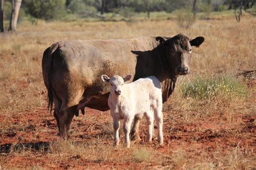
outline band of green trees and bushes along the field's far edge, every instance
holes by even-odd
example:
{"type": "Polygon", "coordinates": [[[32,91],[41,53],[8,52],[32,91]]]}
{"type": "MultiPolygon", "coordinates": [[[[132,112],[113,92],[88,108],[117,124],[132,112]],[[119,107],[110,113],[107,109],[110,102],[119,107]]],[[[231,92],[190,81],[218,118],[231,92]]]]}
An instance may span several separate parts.
{"type": "MultiPolygon", "coordinates": [[[[149,17],[152,12],[165,11],[176,12],[178,23],[183,28],[189,28],[196,18],[192,16],[191,9],[194,1],[187,0],[25,0],[22,1],[21,17],[29,16],[31,22],[36,23],[38,18],[62,19],[65,21],[77,17],[92,17],[106,19],[106,14],[131,18],[135,13],[146,12],[149,17]],[[184,10],[186,9],[186,10],[184,10]],[[24,13],[24,10],[26,13],[24,13]],[[182,13],[185,11],[185,13],[182,13]],[[67,15],[69,14],[69,16],[67,15]]],[[[252,0],[245,1],[244,8],[250,8],[252,0]]],[[[203,18],[209,18],[212,11],[223,11],[235,8],[231,0],[197,0],[196,11],[203,18]]],[[[5,19],[11,15],[11,1],[6,0],[4,6],[5,19]]]]}

